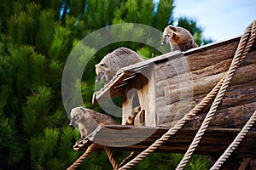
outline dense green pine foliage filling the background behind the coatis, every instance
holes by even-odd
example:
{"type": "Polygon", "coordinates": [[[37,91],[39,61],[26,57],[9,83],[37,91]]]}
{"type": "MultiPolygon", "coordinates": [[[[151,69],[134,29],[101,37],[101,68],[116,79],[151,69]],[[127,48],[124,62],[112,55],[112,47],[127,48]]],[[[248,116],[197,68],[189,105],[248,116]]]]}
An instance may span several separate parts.
{"type": "MultiPolygon", "coordinates": [[[[69,120],[63,102],[75,105],[76,99],[82,95],[84,102],[81,105],[104,112],[91,104],[95,89],[102,87],[102,84],[95,84],[95,65],[102,57],[122,46],[137,51],[144,59],[160,54],[154,48],[138,43],[154,41],[150,32],[134,25],[113,28],[109,33],[117,41],[129,35],[138,42],[116,42],[96,51],[80,40],[97,29],[105,26],[108,29],[108,26],[124,22],[153,26],[162,31],[175,21],[172,17],[173,4],[170,0],[160,0],[157,6],[151,0],[97,3],[94,0],[22,0],[0,3],[0,169],[69,167],[82,153],[73,150],[80,134],[76,128],[67,127],[69,120]],[[78,45],[82,48],[76,48],[78,45]],[[70,96],[62,101],[61,77],[70,55],[76,56],[75,65],[67,67],[74,72],[69,75],[74,83],[63,82],[62,88],[70,96]],[[81,69],[84,73],[79,77],[76,73],[81,69]]],[[[194,20],[181,18],[177,21],[179,26],[191,31],[198,44],[211,42],[202,36],[203,29],[194,20]]],[[[98,34],[90,43],[96,45],[106,36],[98,34]]],[[[121,99],[113,99],[113,102],[121,105],[121,99]]],[[[119,117],[114,118],[120,122],[119,117]]],[[[119,160],[125,158],[122,153],[116,154],[119,160]]],[[[188,168],[207,167],[208,164],[204,163],[207,161],[199,158],[192,158],[188,168]]],[[[154,153],[134,168],[172,169],[180,159],[177,155],[154,153]]],[[[80,169],[112,167],[104,152],[95,152],[80,169]]]]}

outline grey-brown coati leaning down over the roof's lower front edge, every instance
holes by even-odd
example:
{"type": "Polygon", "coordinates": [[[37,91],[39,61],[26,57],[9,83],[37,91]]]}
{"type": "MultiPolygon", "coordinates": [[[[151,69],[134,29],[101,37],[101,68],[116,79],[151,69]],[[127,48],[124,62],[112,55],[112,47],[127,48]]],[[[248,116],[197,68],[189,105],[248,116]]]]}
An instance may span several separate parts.
{"type": "Polygon", "coordinates": [[[105,83],[108,83],[120,68],[136,64],[143,60],[142,57],[129,48],[117,48],[112,53],[107,54],[100,63],[95,65],[96,82],[105,78],[105,83]]]}

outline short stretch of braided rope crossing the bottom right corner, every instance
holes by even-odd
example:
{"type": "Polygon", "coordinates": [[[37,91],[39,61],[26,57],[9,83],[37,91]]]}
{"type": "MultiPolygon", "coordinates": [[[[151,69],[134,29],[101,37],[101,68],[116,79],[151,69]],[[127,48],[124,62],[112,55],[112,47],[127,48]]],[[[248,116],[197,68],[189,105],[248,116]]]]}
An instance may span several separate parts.
{"type": "Polygon", "coordinates": [[[256,122],[256,110],[253,112],[253,115],[248,120],[247,124],[242,127],[240,133],[237,134],[236,139],[230,144],[230,146],[227,148],[227,150],[224,151],[224,154],[218,158],[218,161],[214,163],[214,165],[211,167],[211,170],[217,170],[219,167],[222,166],[224,161],[226,161],[231,153],[236,150],[236,147],[238,144],[240,144],[241,140],[244,139],[244,137],[249,132],[250,128],[253,127],[253,124],[256,122]]]}

